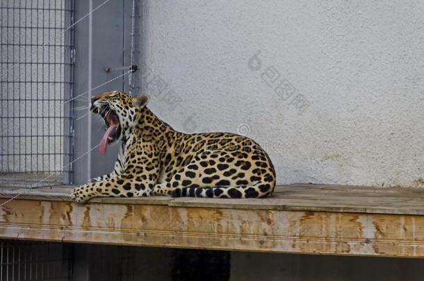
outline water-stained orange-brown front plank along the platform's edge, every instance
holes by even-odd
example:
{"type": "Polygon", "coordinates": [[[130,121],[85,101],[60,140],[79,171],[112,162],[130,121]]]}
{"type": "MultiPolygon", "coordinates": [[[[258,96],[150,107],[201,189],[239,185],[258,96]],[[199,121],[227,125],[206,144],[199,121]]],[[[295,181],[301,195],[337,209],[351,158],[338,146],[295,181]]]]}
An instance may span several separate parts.
{"type": "Polygon", "coordinates": [[[0,207],[0,237],[424,257],[424,216],[16,199],[0,207]]]}

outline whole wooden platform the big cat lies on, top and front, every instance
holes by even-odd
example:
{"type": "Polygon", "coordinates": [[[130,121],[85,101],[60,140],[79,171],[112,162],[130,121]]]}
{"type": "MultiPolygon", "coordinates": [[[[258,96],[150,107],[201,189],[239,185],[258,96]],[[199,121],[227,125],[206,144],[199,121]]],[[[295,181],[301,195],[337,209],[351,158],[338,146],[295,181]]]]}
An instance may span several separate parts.
{"type": "Polygon", "coordinates": [[[424,189],[279,186],[267,199],[95,198],[0,187],[0,237],[280,253],[424,257],[424,189]]]}

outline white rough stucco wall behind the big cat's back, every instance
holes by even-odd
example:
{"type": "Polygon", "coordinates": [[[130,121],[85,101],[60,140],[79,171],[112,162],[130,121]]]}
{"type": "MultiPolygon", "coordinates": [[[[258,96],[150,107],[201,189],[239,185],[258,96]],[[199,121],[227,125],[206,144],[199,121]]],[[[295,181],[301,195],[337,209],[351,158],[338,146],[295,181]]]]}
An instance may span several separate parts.
{"type": "Polygon", "coordinates": [[[143,5],[142,82],[174,128],[245,133],[279,183],[424,186],[423,1],[143,5]]]}

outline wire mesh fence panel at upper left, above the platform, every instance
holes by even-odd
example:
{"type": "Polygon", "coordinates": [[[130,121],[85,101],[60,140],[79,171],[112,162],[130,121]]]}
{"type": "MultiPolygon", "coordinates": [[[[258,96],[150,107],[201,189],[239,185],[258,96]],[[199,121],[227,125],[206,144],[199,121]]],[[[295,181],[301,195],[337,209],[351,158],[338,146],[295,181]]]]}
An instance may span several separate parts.
{"type": "Polygon", "coordinates": [[[0,182],[70,183],[73,6],[0,1],[0,182]]]}

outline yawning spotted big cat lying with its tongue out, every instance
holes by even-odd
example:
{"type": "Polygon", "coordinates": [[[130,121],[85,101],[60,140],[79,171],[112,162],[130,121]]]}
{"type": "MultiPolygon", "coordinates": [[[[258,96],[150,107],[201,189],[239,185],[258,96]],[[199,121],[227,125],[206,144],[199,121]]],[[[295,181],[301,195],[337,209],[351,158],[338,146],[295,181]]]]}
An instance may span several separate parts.
{"type": "Polygon", "coordinates": [[[120,143],[111,173],[75,187],[73,201],[93,197],[171,195],[204,198],[263,198],[275,187],[275,170],[259,144],[233,133],[186,134],[149,108],[149,96],[105,92],[93,96],[90,111],[106,132],[99,149],[120,143]]]}

